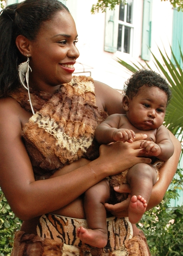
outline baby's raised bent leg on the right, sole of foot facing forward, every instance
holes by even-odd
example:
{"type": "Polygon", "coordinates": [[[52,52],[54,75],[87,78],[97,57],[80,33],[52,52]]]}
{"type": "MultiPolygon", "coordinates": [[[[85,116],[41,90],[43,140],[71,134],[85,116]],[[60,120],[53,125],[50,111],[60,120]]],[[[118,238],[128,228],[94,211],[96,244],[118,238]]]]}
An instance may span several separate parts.
{"type": "Polygon", "coordinates": [[[150,164],[139,163],[129,169],[126,177],[131,188],[129,221],[137,223],[146,211],[153,185],[157,180],[156,170],[150,164]]]}

